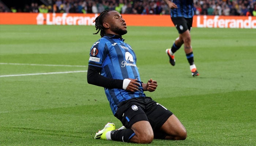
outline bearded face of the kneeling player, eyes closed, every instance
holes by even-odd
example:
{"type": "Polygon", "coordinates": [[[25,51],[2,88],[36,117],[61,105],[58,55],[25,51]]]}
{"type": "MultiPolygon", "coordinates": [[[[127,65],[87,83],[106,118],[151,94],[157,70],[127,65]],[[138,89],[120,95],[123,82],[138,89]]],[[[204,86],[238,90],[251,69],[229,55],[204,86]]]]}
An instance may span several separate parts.
{"type": "Polygon", "coordinates": [[[124,35],[127,33],[127,26],[125,20],[117,11],[109,12],[110,31],[117,35],[124,35]]]}

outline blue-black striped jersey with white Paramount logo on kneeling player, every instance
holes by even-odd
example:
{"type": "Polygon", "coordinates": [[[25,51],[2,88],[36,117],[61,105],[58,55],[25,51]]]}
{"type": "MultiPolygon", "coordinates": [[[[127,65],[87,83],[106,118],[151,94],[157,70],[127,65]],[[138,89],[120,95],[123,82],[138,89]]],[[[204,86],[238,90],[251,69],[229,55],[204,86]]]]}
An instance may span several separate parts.
{"type": "Polygon", "coordinates": [[[124,89],[105,88],[113,114],[116,114],[117,105],[125,100],[145,97],[138,68],[136,55],[132,47],[124,39],[116,35],[105,35],[91,47],[89,65],[102,68],[101,75],[107,78],[124,80],[125,78],[138,79],[139,90],[128,92],[124,89]]]}

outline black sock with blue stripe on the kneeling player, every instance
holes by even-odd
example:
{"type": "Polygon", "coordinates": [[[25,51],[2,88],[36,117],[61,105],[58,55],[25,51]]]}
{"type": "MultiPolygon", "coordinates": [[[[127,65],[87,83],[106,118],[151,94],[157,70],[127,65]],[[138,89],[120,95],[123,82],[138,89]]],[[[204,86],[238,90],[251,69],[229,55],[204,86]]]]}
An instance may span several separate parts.
{"type": "Polygon", "coordinates": [[[122,129],[113,130],[110,135],[113,141],[129,142],[135,133],[131,129],[122,129]]]}

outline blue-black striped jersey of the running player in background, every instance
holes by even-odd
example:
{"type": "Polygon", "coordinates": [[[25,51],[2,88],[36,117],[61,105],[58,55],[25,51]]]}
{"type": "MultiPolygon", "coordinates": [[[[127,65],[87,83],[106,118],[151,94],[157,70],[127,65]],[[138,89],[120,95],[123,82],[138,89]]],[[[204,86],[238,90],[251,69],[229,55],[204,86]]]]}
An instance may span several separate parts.
{"type": "Polygon", "coordinates": [[[171,17],[192,18],[194,16],[193,0],[172,0],[178,8],[171,9],[171,17]]]}

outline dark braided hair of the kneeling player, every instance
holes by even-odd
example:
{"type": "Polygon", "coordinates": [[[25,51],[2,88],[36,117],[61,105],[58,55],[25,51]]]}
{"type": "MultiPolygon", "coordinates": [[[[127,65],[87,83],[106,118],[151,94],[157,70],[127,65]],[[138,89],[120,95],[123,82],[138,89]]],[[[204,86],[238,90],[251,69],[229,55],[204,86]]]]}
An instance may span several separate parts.
{"type": "Polygon", "coordinates": [[[105,34],[104,29],[105,29],[105,28],[103,27],[103,21],[104,21],[104,19],[105,19],[105,15],[109,15],[109,14],[108,14],[109,11],[113,11],[113,10],[109,10],[109,9],[108,9],[108,10],[102,11],[101,14],[99,14],[99,16],[95,18],[95,20],[94,20],[94,22],[95,22],[95,28],[96,28],[96,31],[97,31],[97,30],[98,30],[98,31],[95,32],[94,34],[98,34],[99,31],[101,31],[101,32],[100,32],[101,37],[104,36],[104,34],[105,34]]]}

